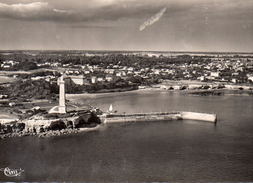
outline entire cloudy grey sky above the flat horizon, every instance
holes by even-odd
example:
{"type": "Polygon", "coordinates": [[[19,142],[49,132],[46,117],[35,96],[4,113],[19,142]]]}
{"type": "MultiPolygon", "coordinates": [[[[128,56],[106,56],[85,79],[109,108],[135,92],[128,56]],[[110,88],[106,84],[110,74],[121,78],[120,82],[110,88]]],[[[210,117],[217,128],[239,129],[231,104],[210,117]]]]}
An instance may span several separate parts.
{"type": "Polygon", "coordinates": [[[253,0],[0,0],[0,50],[253,52],[253,0]]]}

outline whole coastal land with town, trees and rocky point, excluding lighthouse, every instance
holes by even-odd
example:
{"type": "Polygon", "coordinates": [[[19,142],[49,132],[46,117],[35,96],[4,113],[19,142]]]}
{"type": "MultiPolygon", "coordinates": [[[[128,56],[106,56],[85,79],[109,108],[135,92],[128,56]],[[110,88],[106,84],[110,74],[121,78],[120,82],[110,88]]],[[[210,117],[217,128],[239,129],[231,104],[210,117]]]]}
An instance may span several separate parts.
{"type": "Polygon", "coordinates": [[[6,51],[0,59],[2,138],[51,137],[100,124],[99,109],[71,101],[75,107],[68,113],[50,113],[61,95],[60,82],[64,95],[137,89],[198,90],[189,93],[197,95],[227,89],[251,95],[253,88],[251,54],[6,51]]]}

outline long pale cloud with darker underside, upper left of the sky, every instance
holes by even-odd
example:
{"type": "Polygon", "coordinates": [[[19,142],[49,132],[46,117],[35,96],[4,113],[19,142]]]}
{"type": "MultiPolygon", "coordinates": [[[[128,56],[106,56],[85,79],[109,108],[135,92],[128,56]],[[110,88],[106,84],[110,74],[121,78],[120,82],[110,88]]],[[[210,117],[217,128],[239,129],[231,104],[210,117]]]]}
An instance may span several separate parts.
{"type": "Polygon", "coordinates": [[[0,18],[63,23],[117,21],[122,18],[138,19],[144,15],[150,15],[153,8],[158,7],[158,5],[153,5],[150,8],[150,3],[142,2],[142,0],[140,3],[133,0],[25,1],[30,1],[30,3],[3,0],[5,3],[0,3],[0,18]]]}

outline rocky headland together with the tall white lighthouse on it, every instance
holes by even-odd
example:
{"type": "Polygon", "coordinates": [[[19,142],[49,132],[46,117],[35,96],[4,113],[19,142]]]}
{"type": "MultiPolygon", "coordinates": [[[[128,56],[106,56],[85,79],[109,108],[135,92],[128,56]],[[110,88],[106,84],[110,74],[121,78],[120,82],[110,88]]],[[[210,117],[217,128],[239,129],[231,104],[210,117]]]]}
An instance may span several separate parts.
{"type": "Polygon", "coordinates": [[[60,88],[58,106],[54,106],[49,112],[41,110],[37,106],[29,111],[29,117],[21,115],[20,119],[2,120],[0,123],[0,137],[28,135],[51,137],[78,133],[84,128],[94,128],[101,123],[96,115],[97,109],[83,109],[78,106],[74,106],[74,108],[69,106],[69,109],[67,109],[63,76],[59,77],[58,83],[60,88]]]}

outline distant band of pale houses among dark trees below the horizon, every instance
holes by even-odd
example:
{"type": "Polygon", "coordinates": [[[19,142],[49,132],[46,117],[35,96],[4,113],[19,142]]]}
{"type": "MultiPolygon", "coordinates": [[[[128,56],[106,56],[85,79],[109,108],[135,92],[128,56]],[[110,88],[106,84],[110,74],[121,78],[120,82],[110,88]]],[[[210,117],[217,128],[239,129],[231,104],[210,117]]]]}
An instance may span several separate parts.
{"type": "Polygon", "coordinates": [[[12,71],[6,72],[9,77],[52,82],[64,74],[77,85],[124,81],[125,85],[132,83],[141,87],[163,80],[253,82],[252,54],[24,51],[2,52],[0,59],[1,72],[12,71]],[[24,72],[17,72],[20,70],[24,72]]]}

